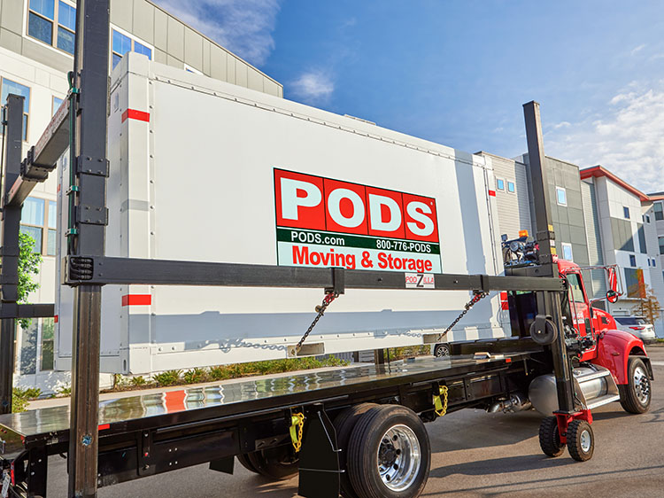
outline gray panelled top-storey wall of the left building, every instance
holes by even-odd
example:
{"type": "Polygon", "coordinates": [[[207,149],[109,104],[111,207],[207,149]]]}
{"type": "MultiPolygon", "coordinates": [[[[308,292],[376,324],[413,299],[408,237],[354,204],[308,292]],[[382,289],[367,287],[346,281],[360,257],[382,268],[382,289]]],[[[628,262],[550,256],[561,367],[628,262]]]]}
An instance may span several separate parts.
{"type": "MultiPolygon", "coordinates": [[[[73,57],[27,35],[29,0],[0,0],[0,46],[66,73],[73,57]]],[[[154,47],[152,59],[270,95],[283,86],[148,0],[111,0],[111,23],[154,47]]]]}

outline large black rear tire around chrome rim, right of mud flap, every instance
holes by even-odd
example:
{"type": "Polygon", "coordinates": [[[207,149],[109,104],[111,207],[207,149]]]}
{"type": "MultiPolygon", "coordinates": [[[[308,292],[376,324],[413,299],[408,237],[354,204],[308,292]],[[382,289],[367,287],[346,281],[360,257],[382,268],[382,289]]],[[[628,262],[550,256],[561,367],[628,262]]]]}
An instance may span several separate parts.
{"type": "Polygon", "coordinates": [[[429,434],[411,409],[395,405],[369,409],[355,424],[348,446],[348,473],[359,498],[415,498],[427,484],[431,463],[429,434]],[[386,437],[388,432],[392,433],[390,437],[386,437]],[[401,453],[401,448],[407,450],[415,445],[419,456],[409,462],[414,452],[401,453]],[[391,480],[383,481],[376,455],[388,472],[397,472],[391,480]]]}

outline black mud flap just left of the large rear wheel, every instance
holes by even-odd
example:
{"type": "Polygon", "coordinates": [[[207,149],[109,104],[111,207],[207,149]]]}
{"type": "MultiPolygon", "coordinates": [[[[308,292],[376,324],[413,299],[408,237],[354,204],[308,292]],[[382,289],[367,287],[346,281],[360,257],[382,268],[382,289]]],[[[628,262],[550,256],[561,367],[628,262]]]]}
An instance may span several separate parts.
{"type": "Polygon", "coordinates": [[[305,498],[338,498],[339,451],[334,425],[322,405],[314,405],[306,411],[297,494],[305,498]]]}

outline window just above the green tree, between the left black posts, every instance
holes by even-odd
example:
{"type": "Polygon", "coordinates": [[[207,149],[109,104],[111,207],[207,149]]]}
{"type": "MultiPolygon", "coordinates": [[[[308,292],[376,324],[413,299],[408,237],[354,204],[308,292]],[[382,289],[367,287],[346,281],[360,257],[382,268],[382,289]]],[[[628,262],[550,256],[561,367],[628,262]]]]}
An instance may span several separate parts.
{"type": "Polygon", "coordinates": [[[28,197],[23,203],[20,231],[35,239],[35,253],[55,256],[57,220],[58,209],[55,201],[28,197]]]}

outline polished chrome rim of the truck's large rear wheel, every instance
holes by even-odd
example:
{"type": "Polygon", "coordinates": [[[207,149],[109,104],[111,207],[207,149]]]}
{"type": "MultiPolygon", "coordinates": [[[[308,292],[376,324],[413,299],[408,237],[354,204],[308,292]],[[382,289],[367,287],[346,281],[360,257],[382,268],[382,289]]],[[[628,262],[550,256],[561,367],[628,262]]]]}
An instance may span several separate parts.
{"type": "Polygon", "coordinates": [[[392,491],[403,491],[415,482],[421,465],[420,440],[410,427],[399,424],[382,435],[376,455],[382,483],[392,491]]]}

